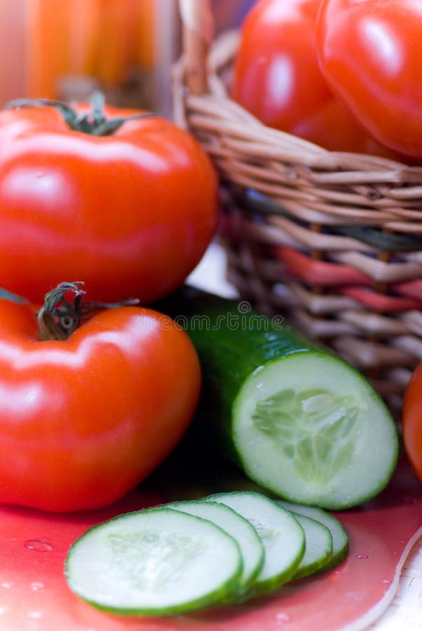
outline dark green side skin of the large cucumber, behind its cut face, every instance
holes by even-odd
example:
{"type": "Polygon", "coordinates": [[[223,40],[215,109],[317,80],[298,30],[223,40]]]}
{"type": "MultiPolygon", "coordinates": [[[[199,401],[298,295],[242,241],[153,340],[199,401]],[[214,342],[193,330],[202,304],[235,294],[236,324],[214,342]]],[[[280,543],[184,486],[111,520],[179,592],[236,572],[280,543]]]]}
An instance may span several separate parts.
{"type": "Polygon", "coordinates": [[[194,287],[183,287],[154,308],[168,313],[184,327],[200,359],[203,388],[196,414],[200,423],[194,423],[193,433],[243,468],[241,454],[233,442],[232,421],[236,398],[246,379],[285,355],[328,353],[327,349],[297,331],[287,330],[287,326],[278,330],[271,318],[257,311],[240,313],[236,301],[194,287]],[[222,325],[228,321],[238,323],[238,327],[222,325]],[[261,323],[259,327],[257,323],[261,323]]]}

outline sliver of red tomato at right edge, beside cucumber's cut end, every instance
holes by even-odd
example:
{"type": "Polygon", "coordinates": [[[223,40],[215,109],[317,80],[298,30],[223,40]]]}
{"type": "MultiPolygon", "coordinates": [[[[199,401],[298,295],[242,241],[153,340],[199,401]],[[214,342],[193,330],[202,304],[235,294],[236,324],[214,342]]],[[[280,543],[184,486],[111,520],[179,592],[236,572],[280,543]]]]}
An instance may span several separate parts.
{"type": "Polygon", "coordinates": [[[402,414],[404,448],[422,482],[422,362],[411,376],[402,414]]]}

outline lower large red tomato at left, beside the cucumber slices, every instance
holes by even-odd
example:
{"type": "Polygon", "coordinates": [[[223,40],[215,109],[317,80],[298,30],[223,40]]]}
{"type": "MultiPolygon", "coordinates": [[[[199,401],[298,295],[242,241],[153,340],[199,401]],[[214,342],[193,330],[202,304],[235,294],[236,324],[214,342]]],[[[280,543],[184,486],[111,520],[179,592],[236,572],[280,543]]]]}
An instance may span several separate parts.
{"type": "Polygon", "coordinates": [[[0,502],[106,506],[182,437],[200,388],[196,351],[151,309],[102,309],[47,341],[35,310],[0,299],[0,502]]]}

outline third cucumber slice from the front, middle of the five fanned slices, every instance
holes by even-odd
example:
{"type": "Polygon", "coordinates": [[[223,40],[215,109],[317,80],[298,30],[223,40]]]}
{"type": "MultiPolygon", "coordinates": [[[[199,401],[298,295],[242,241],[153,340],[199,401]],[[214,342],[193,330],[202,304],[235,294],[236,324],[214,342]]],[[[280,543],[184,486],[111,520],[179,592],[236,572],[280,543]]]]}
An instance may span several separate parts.
{"type": "Polygon", "coordinates": [[[280,588],[297,571],[305,552],[304,530],[290,511],[254,491],[216,493],[205,501],[221,502],[247,519],[259,534],[265,550],[264,566],[249,596],[280,588]]]}

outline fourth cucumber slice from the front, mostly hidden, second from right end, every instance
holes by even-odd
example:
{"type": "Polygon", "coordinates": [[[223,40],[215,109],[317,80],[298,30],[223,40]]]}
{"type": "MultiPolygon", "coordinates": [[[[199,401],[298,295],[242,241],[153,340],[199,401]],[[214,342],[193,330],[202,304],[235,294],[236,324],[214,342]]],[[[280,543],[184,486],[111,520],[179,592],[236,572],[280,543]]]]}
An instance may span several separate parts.
{"type": "Polygon", "coordinates": [[[311,520],[311,517],[299,514],[294,517],[305,533],[305,553],[293,576],[297,579],[315,574],[327,565],[332,556],[332,535],[324,524],[311,520]]]}

